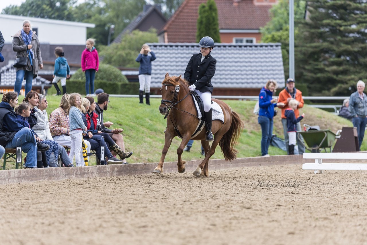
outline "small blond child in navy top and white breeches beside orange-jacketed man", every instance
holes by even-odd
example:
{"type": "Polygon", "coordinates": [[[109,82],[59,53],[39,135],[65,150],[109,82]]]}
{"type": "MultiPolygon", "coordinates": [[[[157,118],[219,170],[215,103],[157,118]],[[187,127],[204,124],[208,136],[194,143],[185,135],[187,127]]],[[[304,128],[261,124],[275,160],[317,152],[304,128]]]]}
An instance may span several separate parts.
{"type": "Polygon", "coordinates": [[[288,138],[289,138],[289,144],[288,144],[288,150],[289,155],[294,155],[294,146],[296,145],[296,132],[297,132],[297,123],[301,121],[305,114],[302,113],[299,118],[296,119],[296,116],[294,115],[294,110],[297,109],[298,101],[295,99],[291,99],[288,102],[289,108],[284,111],[284,116],[287,117],[287,131],[288,131],[288,138]]]}

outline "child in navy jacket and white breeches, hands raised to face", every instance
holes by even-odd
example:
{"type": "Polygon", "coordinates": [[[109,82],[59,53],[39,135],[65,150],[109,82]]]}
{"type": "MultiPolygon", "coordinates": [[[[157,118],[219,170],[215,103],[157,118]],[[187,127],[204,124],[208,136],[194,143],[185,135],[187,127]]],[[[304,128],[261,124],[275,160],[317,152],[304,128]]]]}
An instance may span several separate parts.
{"type": "Polygon", "coordinates": [[[139,103],[143,104],[143,95],[145,91],[145,102],[150,105],[150,75],[152,74],[152,61],[156,59],[156,55],[150,50],[148,44],[143,44],[140,54],[136,58],[136,62],[140,63],[139,67],[139,103]]]}

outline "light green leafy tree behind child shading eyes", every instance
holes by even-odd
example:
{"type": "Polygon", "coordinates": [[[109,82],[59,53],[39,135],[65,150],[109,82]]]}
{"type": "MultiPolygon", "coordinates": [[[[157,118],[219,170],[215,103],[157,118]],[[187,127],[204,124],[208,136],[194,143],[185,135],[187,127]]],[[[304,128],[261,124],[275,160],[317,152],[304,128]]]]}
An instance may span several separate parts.
{"type": "Polygon", "coordinates": [[[144,43],[154,42],[158,42],[156,29],[152,28],[148,32],[134,30],[124,35],[121,43],[112,43],[110,46],[101,47],[99,55],[103,57],[103,63],[106,64],[139,67],[139,63],[135,59],[141,50],[141,46],[144,43]]]}

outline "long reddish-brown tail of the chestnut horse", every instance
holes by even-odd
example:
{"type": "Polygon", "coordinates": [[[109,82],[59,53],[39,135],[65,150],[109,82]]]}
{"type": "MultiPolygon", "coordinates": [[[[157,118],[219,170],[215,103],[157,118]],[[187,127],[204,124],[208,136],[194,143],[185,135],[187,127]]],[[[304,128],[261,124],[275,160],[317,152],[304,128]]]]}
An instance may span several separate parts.
{"type": "Polygon", "coordinates": [[[224,159],[227,161],[236,159],[237,151],[235,149],[235,145],[237,144],[241,135],[241,130],[243,129],[243,122],[241,121],[240,116],[234,111],[231,111],[231,113],[232,123],[230,128],[221,138],[221,141],[219,141],[219,146],[223,152],[224,159]]]}

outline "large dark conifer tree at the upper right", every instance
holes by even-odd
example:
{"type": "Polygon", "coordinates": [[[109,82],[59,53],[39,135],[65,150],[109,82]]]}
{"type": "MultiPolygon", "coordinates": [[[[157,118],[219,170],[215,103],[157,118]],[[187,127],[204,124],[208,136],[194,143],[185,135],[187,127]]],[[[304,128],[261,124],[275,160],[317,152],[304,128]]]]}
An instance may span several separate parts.
{"type": "Polygon", "coordinates": [[[367,4],[311,0],[296,39],[296,79],[312,95],[346,96],[367,71],[367,4]]]}

